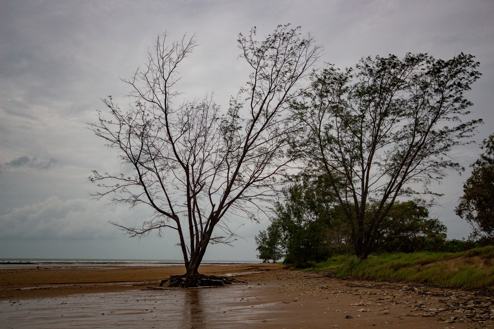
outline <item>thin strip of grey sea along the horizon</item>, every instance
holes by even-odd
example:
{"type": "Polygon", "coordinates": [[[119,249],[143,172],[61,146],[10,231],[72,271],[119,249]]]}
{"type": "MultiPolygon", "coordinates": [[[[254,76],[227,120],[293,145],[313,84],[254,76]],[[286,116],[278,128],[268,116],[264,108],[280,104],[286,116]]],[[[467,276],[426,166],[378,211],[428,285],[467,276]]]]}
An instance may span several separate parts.
{"type": "MultiPolygon", "coordinates": [[[[251,264],[257,260],[203,260],[202,264],[251,264]]],[[[119,265],[119,266],[174,266],[183,265],[179,259],[82,259],[82,258],[0,258],[0,267],[8,265],[119,265]]]]}

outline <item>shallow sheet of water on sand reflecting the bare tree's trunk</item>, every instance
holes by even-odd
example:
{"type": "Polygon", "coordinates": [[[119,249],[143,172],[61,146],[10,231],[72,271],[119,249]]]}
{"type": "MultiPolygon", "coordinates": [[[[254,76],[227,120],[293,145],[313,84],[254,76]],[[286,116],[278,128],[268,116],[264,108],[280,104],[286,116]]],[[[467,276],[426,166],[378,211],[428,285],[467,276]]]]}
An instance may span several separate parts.
{"type": "Polygon", "coordinates": [[[272,305],[251,296],[248,290],[243,285],[232,285],[3,300],[1,327],[240,329],[274,320],[272,305]]]}

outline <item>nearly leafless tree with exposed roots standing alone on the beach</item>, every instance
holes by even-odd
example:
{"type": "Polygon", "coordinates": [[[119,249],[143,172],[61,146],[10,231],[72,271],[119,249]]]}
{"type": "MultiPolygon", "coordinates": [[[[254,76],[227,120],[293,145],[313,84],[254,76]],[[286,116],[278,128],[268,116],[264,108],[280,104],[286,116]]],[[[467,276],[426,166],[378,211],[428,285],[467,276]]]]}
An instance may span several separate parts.
{"type": "Polygon", "coordinates": [[[99,112],[90,124],[133,170],[129,176],[93,171],[90,181],[103,187],[94,196],[154,209],[155,217],[138,227],[115,223],[131,236],[176,230],[187,268],[181,286],[197,284],[208,244],[231,242],[225,219],[232,213],[255,219],[294,159],[288,149],[300,125],[288,103],[299,97],[299,83],[320,53],[299,29],[278,26],[263,41],[255,40],[255,28],[239,35],[240,57],[253,72],[222,115],[211,99],[173,103],[177,67],[195,42],[184,37],[167,46],[166,35],[159,37],[147,65],[124,80],[135,105],[124,112],[110,97],[104,102],[111,119],[99,112]],[[216,227],[227,234],[214,236],[216,227]]]}

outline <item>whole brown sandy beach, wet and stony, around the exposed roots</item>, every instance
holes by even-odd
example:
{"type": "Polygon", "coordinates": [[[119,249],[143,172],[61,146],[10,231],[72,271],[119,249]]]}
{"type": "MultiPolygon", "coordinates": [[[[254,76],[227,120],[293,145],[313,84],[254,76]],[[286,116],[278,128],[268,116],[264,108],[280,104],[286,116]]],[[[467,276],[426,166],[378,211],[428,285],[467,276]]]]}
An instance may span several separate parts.
{"type": "Polygon", "coordinates": [[[485,294],[341,280],[325,272],[288,271],[276,264],[208,265],[200,269],[205,274],[258,272],[238,276],[247,285],[146,288],[157,287],[162,278],[183,271],[182,266],[1,269],[0,327],[492,327],[491,301],[485,294]]]}

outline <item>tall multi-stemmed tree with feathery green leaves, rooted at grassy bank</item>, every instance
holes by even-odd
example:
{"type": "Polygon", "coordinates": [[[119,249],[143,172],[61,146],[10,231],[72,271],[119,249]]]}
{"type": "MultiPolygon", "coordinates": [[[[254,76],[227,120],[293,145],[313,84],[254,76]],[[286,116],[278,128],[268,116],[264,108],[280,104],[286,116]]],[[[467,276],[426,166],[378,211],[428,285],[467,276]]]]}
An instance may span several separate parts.
{"type": "Polygon", "coordinates": [[[397,199],[434,195],[430,183],[464,170],[450,152],[482,121],[461,122],[472,105],[463,92],[480,76],[473,58],[368,57],[355,75],[329,66],[314,74],[306,101],[294,103],[309,127],[304,157],[329,175],[357,256],[373,251],[397,199]],[[414,190],[417,184],[423,188],[414,190]]]}

